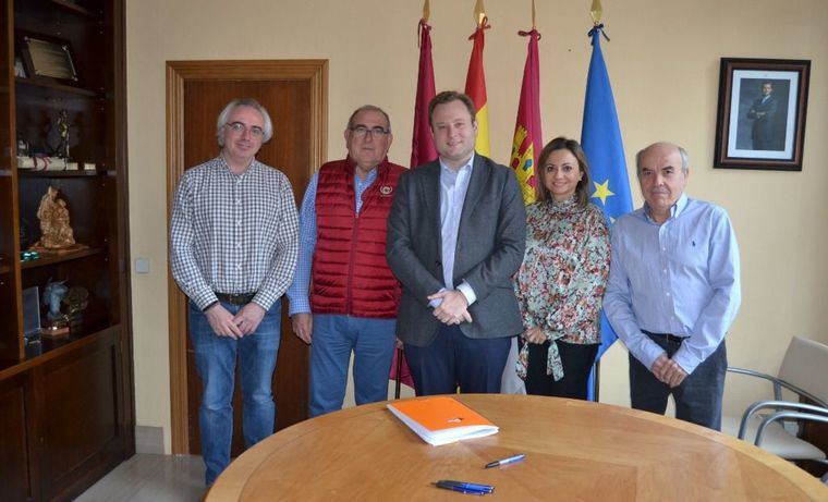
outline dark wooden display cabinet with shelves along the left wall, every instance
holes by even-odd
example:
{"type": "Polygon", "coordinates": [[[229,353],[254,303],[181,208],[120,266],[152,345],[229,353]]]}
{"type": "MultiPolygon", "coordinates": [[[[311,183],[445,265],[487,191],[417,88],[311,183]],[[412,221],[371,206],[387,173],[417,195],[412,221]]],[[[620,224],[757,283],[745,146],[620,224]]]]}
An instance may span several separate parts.
{"type": "Polygon", "coordinates": [[[0,0],[0,497],[71,500],[135,450],[124,0],[0,0]],[[77,79],[33,74],[27,38],[65,42],[77,79]],[[95,169],[19,169],[19,139],[56,152],[62,110],[72,160],[95,169]],[[88,247],[21,261],[49,186],[88,247]],[[81,323],[27,346],[22,291],[63,280],[89,292],[81,323]]]}

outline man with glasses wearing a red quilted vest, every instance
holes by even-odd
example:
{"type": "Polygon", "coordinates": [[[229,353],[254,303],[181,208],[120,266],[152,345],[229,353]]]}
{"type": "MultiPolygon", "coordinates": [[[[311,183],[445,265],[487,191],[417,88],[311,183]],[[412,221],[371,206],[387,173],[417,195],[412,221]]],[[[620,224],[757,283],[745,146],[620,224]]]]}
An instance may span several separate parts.
{"type": "Polygon", "coordinates": [[[354,355],[356,404],[388,399],[400,284],[386,261],[386,220],[405,168],[388,161],[391,123],[372,105],[351,114],[348,157],[319,168],[300,211],[288,290],[293,332],[310,344],[310,416],[342,407],[354,355]]]}

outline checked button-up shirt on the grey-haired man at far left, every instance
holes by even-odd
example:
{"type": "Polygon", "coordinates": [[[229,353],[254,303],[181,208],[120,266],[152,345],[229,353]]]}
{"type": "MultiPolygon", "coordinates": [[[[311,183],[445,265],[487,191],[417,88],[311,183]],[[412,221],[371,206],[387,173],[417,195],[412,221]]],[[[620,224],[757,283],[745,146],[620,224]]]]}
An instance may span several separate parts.
{"type": "Polygon", "coordinates": [[[288,176],[254,160],[233,174],[219,156],[187,170],[170,223],[175,282],[198,308],[216,292],[254,293],[265,310],[293,280],[299,219],[288,176]]]}

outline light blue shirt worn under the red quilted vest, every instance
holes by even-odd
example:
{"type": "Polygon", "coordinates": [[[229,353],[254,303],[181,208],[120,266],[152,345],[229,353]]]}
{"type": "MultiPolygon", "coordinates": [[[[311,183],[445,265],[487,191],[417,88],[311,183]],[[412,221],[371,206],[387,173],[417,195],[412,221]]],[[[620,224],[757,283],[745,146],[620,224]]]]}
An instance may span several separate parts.
{"type": "MultiPolygon", "coordinates": [[[[354,192],[356,215],[362,210],[362,195],[377,179],[377,169],[374,168],[365,176],[365,181],[354,172],[354,192]]],[[[302,199],[302,208],[299,213],[299,260],[293,283],[288,287],[290,307],[288,315],[310,313],[310,271],[314,265],[314,250],[316,250],[316,187],[319,184],[319,171],[310,177],[302,199]]]]}

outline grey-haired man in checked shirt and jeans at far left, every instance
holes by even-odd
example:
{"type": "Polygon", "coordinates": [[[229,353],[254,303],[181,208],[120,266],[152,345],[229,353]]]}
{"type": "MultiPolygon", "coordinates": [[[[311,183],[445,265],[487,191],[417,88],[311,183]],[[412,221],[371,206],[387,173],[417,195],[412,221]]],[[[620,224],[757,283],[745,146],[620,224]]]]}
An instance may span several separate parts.
{"type": "Polygon", "coordinates": [[[173,201],[170,261],[190,297],[207,486],[230,463],[236,357],[246,446],[273,432],[280,297],[293,280],[299,221],[288,177],[255,158],[272,135],[261,105],[231,101],[217,121],[221,152],[184,173],[173,201]]]}

